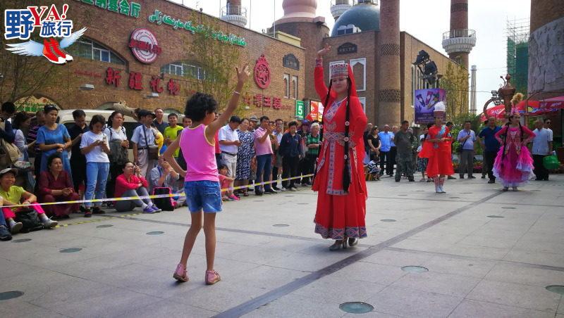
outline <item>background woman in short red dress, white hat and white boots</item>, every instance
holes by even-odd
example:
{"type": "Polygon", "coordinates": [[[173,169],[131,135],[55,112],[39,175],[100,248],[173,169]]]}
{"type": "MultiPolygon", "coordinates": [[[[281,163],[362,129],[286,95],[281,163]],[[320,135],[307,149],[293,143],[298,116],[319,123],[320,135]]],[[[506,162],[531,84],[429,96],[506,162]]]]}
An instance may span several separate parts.
{"type": "Polygon", "coordinates": [[[453,158],[450,155],[450,145],[453,139],[450,131],[443,125],[446,106],[442,101],[436,103],[433,115],[435,125],[429,128],[427,140],[423,144],[423,149],[419,153],[421,158],[429,158],[427,164],[427,176],[433,178],[436,193],[446,193],[443,189],[445,176],[454,174],[453,158]]]}

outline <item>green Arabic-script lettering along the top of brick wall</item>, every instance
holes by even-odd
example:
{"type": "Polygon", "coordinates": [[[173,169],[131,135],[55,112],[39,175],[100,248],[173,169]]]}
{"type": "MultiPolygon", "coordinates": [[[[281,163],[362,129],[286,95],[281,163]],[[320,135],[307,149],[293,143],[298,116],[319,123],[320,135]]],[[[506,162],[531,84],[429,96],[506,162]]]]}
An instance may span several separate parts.
{"type": "Polygon", "coordinates": [[[216,31],[206,25],[192,25],[192,21],[183,22],[183,20],[172,18],[171,15],[166,15],[159,10],[155,10],[152,15],[149,15],[149,22],[156,23],[157,25],[170,25],[174,30],[186,30],[192,34],[207,34],[211,39],[221,43],[247,46],[247,42],[245,42],[244,37],[238,37],[235,34],[226,34],[222,31],[216,31]]]}

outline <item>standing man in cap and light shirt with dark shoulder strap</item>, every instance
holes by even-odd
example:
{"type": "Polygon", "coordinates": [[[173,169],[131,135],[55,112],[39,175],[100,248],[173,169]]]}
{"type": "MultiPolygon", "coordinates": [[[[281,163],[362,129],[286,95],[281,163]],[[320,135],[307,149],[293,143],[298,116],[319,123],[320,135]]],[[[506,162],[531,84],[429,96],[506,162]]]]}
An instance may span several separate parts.
{"type": "Polygon", "coordinates": [[[154,168],[155,160],[149,160],[149,146],[155,146],[155,138],[151,129],[154,113],[149,110],[139,110],[140,126],[133,130],[133,162],[141,169],[141,175],[149,179],[149,172],[154,168]]]}

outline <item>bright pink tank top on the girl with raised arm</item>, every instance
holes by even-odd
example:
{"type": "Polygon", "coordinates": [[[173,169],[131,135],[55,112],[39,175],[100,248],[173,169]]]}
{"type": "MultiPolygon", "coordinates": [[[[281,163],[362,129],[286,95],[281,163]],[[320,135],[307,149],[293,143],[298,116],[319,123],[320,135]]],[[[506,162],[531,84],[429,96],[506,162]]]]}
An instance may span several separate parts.
{"type": "Polygon", "coordinates": [[[186,177],[184,181],[216,181],[217,163],[215,142],[210,144],[204,134],[207,126],[186,127],[180,135],[180,149],[186,161],[186,177]]]}

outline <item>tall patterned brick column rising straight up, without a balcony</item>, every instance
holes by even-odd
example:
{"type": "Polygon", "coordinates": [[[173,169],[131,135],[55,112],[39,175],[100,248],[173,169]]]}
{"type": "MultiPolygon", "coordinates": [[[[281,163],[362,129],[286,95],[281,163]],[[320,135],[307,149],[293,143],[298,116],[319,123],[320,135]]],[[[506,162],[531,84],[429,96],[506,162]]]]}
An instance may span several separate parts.
{"type": "MultiPolygon", "coordinates": [[[[381,0],[378,34],[379,126],[400,123],[400,0],[381,0]]],[[[369,118],[369,121],[372,119],[369,118]]]]}

